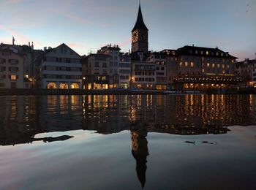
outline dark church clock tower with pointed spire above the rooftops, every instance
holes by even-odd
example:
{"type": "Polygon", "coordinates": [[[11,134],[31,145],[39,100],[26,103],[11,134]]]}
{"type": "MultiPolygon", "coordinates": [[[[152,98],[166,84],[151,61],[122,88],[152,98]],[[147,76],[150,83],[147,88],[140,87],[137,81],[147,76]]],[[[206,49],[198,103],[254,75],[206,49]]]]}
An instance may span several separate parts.
{"type": "Polygon", "coordinates": [[[143,21],[140,6],[137,21],[132,29],[132,52],[148,53],[148,28],[143,21]]]}

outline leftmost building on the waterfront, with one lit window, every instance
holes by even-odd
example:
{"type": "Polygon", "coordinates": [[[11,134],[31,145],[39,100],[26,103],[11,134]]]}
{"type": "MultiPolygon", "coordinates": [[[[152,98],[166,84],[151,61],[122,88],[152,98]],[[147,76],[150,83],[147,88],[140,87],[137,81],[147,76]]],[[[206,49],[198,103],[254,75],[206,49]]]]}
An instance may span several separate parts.
{"type": "Polygon", "coordinates": [[[28,88],[24,85],[26,58],[10,49],[0,49],[0,88],[28,88]]]}

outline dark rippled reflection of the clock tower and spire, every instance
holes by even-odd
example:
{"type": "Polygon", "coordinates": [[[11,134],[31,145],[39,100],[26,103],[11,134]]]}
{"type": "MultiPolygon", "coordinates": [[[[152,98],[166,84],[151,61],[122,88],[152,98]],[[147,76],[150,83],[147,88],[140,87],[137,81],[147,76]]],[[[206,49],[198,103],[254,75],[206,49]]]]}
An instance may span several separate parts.
{"type": "Polygon", "coordinates": [[[132,156],[136,160],[136,172],[142,187],[146,183],[146,162],[148,156],[147,134],[146,127],[137,126],[136,124],[131,126],[132,156]]]}

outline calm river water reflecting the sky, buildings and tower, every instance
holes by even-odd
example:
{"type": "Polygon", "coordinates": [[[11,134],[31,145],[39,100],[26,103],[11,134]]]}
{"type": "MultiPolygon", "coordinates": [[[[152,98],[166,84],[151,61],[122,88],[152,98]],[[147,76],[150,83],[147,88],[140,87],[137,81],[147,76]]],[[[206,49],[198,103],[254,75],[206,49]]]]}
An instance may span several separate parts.
{"type": "Polygon", "coordinates": [[[0,189],[256,189],[256,96],[0,96],[0,189]]]}

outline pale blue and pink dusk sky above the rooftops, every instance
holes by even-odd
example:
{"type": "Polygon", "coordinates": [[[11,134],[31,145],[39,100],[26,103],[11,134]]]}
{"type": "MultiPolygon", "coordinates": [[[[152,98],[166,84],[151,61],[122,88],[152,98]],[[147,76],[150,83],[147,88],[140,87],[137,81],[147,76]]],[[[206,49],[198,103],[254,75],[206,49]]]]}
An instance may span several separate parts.
{"type": "MultiPolygon", "coordinates": [[[[255,0],[141,0],[149,50],[219,47],[255,58],[255,0]]],[[[0,42],[35,49],[66,43],[80,55],[103,45],[131,48],[138,0],[0,0],[0,42]]]]}

